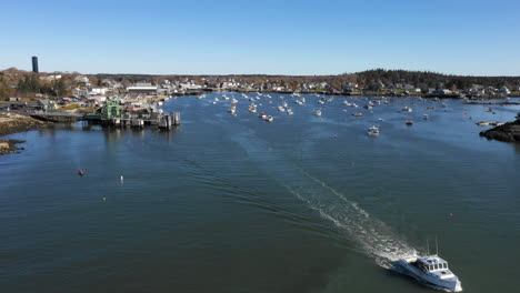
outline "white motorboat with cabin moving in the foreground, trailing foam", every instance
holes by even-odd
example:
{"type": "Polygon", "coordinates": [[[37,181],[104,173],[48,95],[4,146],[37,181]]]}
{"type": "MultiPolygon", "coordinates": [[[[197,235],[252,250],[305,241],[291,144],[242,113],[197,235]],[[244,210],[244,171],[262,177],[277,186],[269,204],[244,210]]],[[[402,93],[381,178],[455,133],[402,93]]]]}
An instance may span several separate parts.
{"type": "Polygon", "coordinates": [[[437,254],[403,257],[394,264],[402,267],[406,274],[433,287],[451,292],[462,291],[459,277],[448,269],[448,262],[437,254]]]}

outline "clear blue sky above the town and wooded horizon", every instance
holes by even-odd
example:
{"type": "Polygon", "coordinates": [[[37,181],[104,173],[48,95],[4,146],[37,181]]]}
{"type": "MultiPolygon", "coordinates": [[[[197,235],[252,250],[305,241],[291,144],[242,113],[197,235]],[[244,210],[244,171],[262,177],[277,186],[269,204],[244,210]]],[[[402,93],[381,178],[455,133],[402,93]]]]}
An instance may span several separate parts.
{"type": "Polygon", "coordinates": [[[0,69],[520,75],[520,1],[9,1],[0,69]]]}

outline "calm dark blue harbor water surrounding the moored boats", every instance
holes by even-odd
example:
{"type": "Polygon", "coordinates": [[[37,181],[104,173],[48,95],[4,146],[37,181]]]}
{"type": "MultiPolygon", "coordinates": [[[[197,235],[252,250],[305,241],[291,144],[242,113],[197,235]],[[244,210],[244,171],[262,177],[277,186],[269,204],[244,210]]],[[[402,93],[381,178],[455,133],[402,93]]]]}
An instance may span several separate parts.
{"type": "Polygon", "coordinates": [[[167,102],[171,132],[11,135],[27,150],[0,156],[0,292],[437,292],[384,269],[436,235],[464,292],[518,292],[520,148],[474,122],[519,107],[337,97],[318,118],[318,98],[284,95],[287,115],[271,94],[268,123],[220,95],[167,102]]]}

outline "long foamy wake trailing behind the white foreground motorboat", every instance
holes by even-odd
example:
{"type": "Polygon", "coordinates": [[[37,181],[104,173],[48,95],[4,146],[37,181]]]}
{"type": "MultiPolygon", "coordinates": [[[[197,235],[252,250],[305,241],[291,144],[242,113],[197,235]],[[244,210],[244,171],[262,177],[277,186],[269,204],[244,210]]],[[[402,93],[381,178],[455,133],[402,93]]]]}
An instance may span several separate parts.
{"type": "Polygon", "coordinates": [[[266,173],[321,218],[332,222],[340,234],[359,243],[379,265],[392,269],[392,262],[417,254],[416,250],[387,224],[371,216],[358,203],[349,200],[348,195],[296,165],[288,155],[270,148],[252,131],[242,131],[233,135],[233,140],[266,173]]]}

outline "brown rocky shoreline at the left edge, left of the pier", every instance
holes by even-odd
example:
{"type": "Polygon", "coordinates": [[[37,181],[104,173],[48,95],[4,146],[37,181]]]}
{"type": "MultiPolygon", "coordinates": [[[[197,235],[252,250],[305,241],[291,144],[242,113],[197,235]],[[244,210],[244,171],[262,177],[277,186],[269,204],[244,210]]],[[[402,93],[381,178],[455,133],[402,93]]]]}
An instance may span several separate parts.
{"type": "MultiPolygon", "coordinates": [[[[42,122],[29,117],[19,114],[2,114],[0,115],[0,137],[38,129],[49,123],[42,122]]],[[[10,154],[23,150],[18,148],[17,144],[23,143],[21,140],[6,140],[0,139],[0,155],[10,154]]]]}

